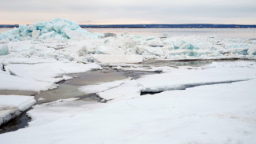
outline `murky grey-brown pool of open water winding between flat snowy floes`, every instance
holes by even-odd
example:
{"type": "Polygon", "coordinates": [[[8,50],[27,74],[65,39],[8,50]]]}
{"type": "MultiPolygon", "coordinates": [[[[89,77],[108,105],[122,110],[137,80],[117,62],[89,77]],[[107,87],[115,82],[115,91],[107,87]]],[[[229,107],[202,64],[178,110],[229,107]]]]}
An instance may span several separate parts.
{"type": "Polygon", "coordinates": [[[98,98],[96,94],[84,94],[79,90],[80,86],[111,82],[118,79],[126,79],[128,77],[138,79],[139,76],[153,73],[154,72],[120,71],[112,68],[104,68],[102,70],[69,74],[68,76],[72,76],[73,79],[60,83],[60,86],[57,89],[47,90],[40,92],[40,94],[35,94],[35,100],[38,103],[44,103],[54,102],[58,99],[65,98],[83,98],[87,101],[99,102],[101,101],[101,98],[98,98]],[[44,100],[39,101],[39,98],[43,98],[44,100]]]}

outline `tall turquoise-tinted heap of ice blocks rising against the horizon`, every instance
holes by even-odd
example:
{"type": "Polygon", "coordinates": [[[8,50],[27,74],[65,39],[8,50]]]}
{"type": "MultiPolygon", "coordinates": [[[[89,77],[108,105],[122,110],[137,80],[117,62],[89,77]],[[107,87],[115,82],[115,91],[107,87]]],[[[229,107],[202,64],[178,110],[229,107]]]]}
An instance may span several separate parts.
{"type": "Polygon", "coordinates": [[[51,21],[37,22],[31,25],[20,25],[19,28],[6,31],[0,35],[0,40],[9,41],[47,39],[47,38],[79,38],[84,35],[91,35],[83,28],[80,28],[74,21],[56,18],[51,21]]]}

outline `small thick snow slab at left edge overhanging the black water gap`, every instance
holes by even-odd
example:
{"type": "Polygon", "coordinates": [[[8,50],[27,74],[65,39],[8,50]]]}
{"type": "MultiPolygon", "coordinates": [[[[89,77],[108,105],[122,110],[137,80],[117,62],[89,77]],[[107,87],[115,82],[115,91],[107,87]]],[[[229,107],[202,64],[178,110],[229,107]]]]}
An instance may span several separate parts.
{"type": "Polygon", "coordinates": [[[35,104],[32,96],[0,95],[0,125],[18,116],[35,104]]]}

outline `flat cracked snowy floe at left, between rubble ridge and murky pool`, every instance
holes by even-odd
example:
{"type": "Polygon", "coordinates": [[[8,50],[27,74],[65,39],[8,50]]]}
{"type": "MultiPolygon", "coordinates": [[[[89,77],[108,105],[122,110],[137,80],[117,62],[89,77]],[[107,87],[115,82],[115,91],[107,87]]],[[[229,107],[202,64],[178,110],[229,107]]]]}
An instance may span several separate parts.
{"type": "MultiPolygon", "coordinates": [[[[100,69],[95,63],[81,64],[42,58],[0,58],[5,71],[0,69],[0,90],[51,90],[59,81],[71,79],[69,73],[100,69]]],[[[1,62],[1,61],[0,61],[1,62]]]]}

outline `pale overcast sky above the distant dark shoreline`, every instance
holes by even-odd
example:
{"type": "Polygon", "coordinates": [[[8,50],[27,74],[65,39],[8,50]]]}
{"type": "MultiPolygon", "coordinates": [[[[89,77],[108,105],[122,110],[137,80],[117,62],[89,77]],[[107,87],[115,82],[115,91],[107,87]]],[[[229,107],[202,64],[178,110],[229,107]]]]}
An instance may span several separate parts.
{"type": "Polygon", "coordinates": [[[0,24],[256,24],[256,0],[0,0],[0,24]]]}

